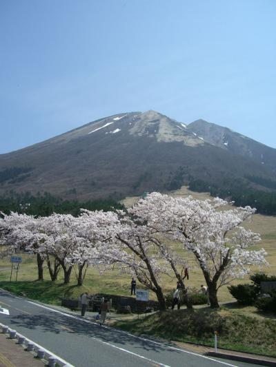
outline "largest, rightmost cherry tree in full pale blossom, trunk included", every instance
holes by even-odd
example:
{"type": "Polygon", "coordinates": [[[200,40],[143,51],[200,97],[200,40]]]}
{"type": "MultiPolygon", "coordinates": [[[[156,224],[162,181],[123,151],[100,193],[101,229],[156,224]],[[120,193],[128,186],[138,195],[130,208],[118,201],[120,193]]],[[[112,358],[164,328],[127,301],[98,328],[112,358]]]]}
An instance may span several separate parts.
{"type": "Polygon", "coordinates": [[[250,207],[227,209],[219,198],[195,200],[151,193],[139,200],[135,213],[193,253],[208,286],[210,306],[218,307],[217,290],[244,277],[252,265],[267,265],[264,249],[252,250],[261,238],[240,224],[255,213],[250,207]]]}

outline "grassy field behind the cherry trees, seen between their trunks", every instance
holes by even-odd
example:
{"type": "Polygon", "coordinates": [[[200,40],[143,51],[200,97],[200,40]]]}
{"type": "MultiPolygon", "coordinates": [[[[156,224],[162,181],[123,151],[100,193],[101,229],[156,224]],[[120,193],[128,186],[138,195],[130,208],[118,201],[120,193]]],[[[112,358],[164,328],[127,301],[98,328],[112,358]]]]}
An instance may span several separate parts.
{"type": "MultiPolygon", "coordinates": [[[[189,191],[186,187],[182,187],[180,190],[174,191],[173,196],[186,197],[193,195],[195,198],[205,199],[210,198],[208,193],[194,193],[189,191]]],[[[126,198],[123,200],[126,206],[132,205],[139,198],[126,198]]],[[[266,249],[268,256],[267,260],[270,266],[262,269],[264,273],[270,275],[276,274],[276,217],[262,216],[255,214],[252,220],[247,221],[244,227],[250,228],[251,230],[260,233],[262,235],[262,242],[259,247],[266,249]]],[[[204,278],[201,275],[201,271],[193,262],[193,257],[181,246],[177,246],[177,252],[189,261],[190,264],[190,280],[186,282],[186,286],[199,289],[200,284],[204,283],[204,278]]],[[[15,274],[10,282],[10,260],[4,258],[0,260],[0,287],[10,289],[14,293],[25,293],[28,297],[32,297],[43,302],[59,304],[61,297],[77,297],[83,290],[89,293],[110,293],[110,294],[121,294],[128,295],[130,293],[130,280],[131,277],[128,275],[121,275],[118,271],[109,271],[100,274],[97,269],[88,269],[86,280],[82,287],[74,286],[77,283],[75,273],[72,273],[70,286],[64,286],[62,284],[62,277],[54,284],[50,282],[48,275],[48,269],[45,268],[45,282],[34,282],[37,279],[37,266],[35,255],[22,255],[23,264],[19,268],[19,275],[17,282],[15,280],[15,274]],[[52,291],[51,291],[52,290],[52,291]]],[[[260,269],[253,268],[253,272],[259,271],[260,269]]],[[[62,274],[61,274],[62,275],[62,274]]],[[[248,277],[244,280],[236,280],[233,284],[239,284],[248,282],[248,277]]],[[[175,279],[170,277],[164,277],[164,291],[168,292],[170,289],[175,288],[175,279]]],[[[137,286],[139,288],[139,285],[137,286]]],[[[230,302],[233,301],[230,293],[226,286],[222,287],[218,293],[219,302],[230,302]]],[[[151,295],[154,298],[154,295],[151,295]]]]}

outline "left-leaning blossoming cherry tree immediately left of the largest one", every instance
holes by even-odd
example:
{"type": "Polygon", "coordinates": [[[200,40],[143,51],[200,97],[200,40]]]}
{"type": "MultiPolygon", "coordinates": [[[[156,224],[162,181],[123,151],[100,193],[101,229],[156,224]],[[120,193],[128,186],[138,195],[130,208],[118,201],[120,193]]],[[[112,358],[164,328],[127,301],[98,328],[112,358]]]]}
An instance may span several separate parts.
{"type": "Polygon", "coordinates": [[[110,213],[106,230],[110,233],[99,254],[103,266],[112,266],[121,273],[128,273],[153,291],[161,310],[166,309],[161,275],[168,274],[168,264],[160,258],[155,230],[142,224],[130,212],[110,213]]]}

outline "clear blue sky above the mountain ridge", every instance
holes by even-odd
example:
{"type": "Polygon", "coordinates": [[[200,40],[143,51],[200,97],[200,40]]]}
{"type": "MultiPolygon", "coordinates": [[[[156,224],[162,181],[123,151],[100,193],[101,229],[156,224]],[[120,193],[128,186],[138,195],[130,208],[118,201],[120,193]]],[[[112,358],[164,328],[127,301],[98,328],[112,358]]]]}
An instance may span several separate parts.
{"type": "Polygon", "coordinates": [[[155,109],[276,148],[275,0],[1,0],[0,153],[155,109]]]}

